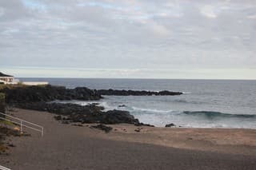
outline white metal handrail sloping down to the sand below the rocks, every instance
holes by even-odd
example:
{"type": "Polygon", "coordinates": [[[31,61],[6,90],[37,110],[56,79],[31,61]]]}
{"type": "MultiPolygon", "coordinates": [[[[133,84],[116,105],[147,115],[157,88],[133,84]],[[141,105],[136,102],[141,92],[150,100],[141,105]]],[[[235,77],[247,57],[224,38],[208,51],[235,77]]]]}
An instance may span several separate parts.
{"type": "Polygon", "coordinates": [[[30,121],[22,120],[18,117],[10,116],[10,115],[5,114],[5,113],[0,113],[0,115],[5,116],[5,117],[0,117],[0,119],[5,120],[5,121],[10,121],[14,124],[19,125],[20,126],[20,132],[23,132],[23,128],[26,127],[26,128],[30,128],[30,129],[33,129],[35,131],[41,132],[41,135],[43,136],[43,133],[44,133],[43,132],[43,127],[40,126],[40,125],[34,124],[30,121]]]}

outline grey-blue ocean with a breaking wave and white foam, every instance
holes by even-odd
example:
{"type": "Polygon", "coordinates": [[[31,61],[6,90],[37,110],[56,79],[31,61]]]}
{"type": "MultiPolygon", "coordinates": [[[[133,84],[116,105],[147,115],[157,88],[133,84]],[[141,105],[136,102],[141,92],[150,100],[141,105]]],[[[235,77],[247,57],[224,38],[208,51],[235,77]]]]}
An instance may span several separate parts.
{"type": "Polygon", "coordinates": [[[174,123],[192,128],[256,128],[256,81],[19,78],[48,81],[67,88],[133,89],[183,92],[180,96],[116,97],[101,101],[68,101],[78,105],[99,103],[106,110],[129,111],[139,121],[158,127],[174,123]]]}

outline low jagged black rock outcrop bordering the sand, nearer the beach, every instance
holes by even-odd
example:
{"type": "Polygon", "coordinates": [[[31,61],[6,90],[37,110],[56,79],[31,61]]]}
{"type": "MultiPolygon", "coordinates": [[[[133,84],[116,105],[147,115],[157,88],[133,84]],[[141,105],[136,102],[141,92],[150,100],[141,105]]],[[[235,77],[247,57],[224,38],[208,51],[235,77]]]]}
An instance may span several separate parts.
{"type": "Polygon", "coordinates": [[[61,115],[62,117],[55,117],[58,121],[81,122],[81,123],[100,123],[100,124],[133,124],[138,125],[140,122],[130,115],[129,112],[122,110],[102,111],[102,107],[97,105],[75,105],[75,104],[61,104],[61,103],[46,103],[46,102],[32,102],[32,103],[18,103],[15,107],[22,109],[34,109],[39,111],[47,111],[61,115]]]}

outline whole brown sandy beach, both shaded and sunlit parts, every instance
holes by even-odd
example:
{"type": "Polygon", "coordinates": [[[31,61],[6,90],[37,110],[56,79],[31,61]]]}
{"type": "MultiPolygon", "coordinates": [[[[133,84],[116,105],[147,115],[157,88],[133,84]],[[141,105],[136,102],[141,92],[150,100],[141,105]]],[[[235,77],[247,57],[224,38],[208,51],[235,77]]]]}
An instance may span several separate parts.
{"type": "Polygon", "coordinates": [[[45,135],[13,137],[0,164],[12,169],[256,169],[256,130],[114,125],[108,134],[54,121],[50,113],[14,115],[45,127],[45,135]]]}

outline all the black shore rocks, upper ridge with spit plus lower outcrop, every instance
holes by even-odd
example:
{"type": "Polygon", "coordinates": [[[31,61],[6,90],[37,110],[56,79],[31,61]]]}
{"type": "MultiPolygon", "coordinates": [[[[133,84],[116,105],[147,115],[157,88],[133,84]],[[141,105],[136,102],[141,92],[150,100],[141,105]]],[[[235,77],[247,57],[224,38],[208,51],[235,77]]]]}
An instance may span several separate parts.
{"type": "MultiPolygon", "coordinates": [[[[44,85],[44,86],[17,86],[6,87],[0,89],[0,93],[5,93],[6,104],[21,108],[33,109],[38,111],[47,111],[55,113],[56,119],[62,123],[70,122],[80,123],[100,123],[100,124],[133,124],[146,125],[135,119],[127,111],[110,110],[103,111],[102,106],[93,105],[75,105],[62,104],[50,101],[98,101],[102,99],[102,95],[116,96],[152,96],[152,95],[181,95],[179,92],[161,91],[134,91],[134,90],[114,90],[114,89],[88,89],[86,87],[78,87],[75,89],[66,89],[62,86],[44,85]]],[[[148,125],[153,126],[153,125],[148,125]]]]}

